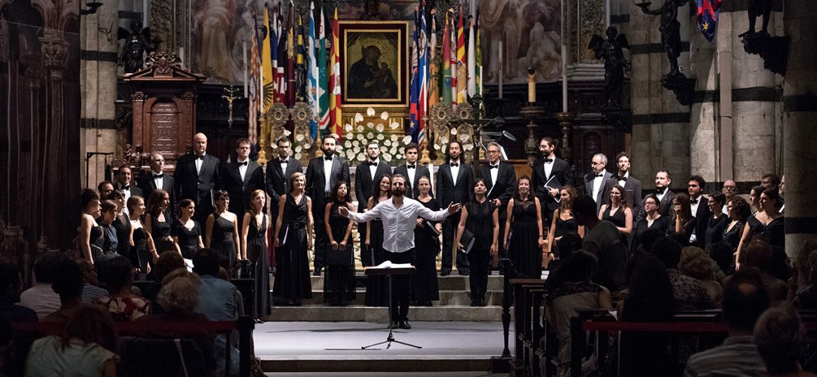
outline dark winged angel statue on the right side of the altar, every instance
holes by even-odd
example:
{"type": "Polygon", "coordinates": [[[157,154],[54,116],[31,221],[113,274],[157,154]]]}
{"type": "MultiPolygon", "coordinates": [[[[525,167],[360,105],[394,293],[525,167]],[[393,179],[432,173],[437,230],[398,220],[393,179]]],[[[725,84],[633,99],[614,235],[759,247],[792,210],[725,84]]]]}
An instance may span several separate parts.
{"type": "Polygon", "coordinates": [[[596,59],[605,60],[605,107],[621,106],[621,91],[624,86],[624,73],[630,69],[630,62],[624,58],[623,49],[630,49],[627,36],[619,34],[618,29],[610,26],[606,31],[607,39],[593,34],[589,50],[596,51],[596,59]]]}

